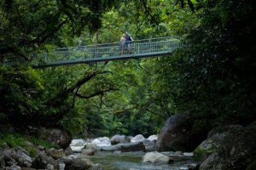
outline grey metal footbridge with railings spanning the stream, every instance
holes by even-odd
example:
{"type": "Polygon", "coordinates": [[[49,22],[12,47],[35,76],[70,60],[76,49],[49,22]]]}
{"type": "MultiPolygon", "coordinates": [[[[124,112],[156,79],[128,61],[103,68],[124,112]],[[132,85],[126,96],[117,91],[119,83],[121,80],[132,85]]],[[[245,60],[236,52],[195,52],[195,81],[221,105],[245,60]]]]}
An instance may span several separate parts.
{"type": "Polygon", "coordinates": [[[34,55],[32,66],[44,68],[117,59],[139,59],[171,54],[179,47],[180,41],[177,38],[159,37],[126,42],[123,53],[121,52],[120,42],[73,48],[56,48],[34,55]]]}

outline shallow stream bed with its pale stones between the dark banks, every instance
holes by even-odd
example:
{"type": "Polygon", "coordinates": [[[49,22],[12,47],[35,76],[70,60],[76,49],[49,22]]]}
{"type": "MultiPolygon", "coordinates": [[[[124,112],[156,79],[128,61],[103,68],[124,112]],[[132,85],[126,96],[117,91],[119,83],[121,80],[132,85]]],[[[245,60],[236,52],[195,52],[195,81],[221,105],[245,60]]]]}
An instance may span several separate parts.
{"type": "Polygon", "coordinates": [[[90,160],[100,163],[105,170],[186,170],[198,167],[191,152],[155,151],[156,139],[155,135],[148,139],[143,135],[130,139],[124,135],[115,135],[111,139],[73,139],[71,148],[78,154],[90,155],[90,160]]]}

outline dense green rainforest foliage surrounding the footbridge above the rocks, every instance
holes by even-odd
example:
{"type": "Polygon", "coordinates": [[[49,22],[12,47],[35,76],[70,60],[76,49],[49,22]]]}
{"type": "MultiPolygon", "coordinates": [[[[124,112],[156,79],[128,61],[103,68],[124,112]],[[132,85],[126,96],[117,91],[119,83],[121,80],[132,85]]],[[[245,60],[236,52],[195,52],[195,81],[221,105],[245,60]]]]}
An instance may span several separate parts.
{"type": "Polygon", "coordinates": [[[249,0],[3,0],[0,123],[74,134],[147,136],[190,111],[198,127],[255,120],[255,2],[249,0]],[[33,69],[58,47],[178,37],[174,54],[33,69]]]}

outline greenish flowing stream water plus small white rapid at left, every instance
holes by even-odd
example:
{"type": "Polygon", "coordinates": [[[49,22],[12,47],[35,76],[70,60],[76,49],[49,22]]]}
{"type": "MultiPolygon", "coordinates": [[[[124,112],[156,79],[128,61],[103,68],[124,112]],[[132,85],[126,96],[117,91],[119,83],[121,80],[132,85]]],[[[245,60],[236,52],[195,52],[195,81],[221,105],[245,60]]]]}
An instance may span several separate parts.
{"type": "MultiPolygon", "coordinates": [[[[72,149],[79,150],[84,147],[84,140],[76,139],[79,142],[73,143],[72,149]]],[[[177,155],[174,152],[161,152],[173,158],[173,162],[167,165],[154,165],[143,163],[143,156],[146,152],[132,151],[113,153],[109,151],[97,151],[94,156],[90,156],[90,161],[100,163],[104,170],[188,170],[189,164],[196,164],[193,153],[183,153],[177,155]]]]}

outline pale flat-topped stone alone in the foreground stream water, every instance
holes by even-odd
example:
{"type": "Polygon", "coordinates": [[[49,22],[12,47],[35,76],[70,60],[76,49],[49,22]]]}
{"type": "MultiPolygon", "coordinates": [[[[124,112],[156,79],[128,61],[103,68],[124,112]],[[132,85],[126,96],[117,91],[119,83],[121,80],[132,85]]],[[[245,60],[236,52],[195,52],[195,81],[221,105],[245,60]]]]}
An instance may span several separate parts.
{"type": "Polygon", "coordinates": [[[161,154],[157,151],[148,152],[143,156],[144,163],[154,163],[154,164],[167,164],[170,163],[172,159],[169,156],[161,154]]]}

